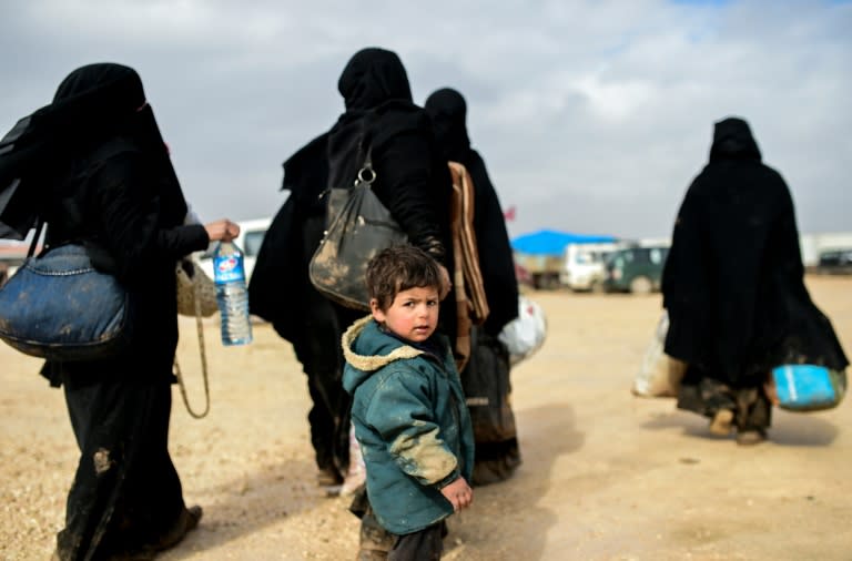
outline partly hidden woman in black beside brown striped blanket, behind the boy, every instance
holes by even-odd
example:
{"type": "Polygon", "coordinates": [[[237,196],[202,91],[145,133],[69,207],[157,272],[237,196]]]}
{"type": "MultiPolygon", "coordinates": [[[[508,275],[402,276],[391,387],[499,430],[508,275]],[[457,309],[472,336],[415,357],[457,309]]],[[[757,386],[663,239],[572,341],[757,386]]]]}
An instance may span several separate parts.
{"type": "Polygon", "coordinates": [[[483,486],[508,479],[521,461],[509,402],[509,353],[497,338],[518,317],[518,282],[500,201],[485,161],[470,146],[465,98],[457,90],[442,88],[429,94],[424,108],[444,159],[463,164],[470,174],[476,242],[487,248],[480,252],[479,269],[489,314],[483,326],[473,328],[470,360],[462,370],[476,438],[473,483],[483,486]]]}

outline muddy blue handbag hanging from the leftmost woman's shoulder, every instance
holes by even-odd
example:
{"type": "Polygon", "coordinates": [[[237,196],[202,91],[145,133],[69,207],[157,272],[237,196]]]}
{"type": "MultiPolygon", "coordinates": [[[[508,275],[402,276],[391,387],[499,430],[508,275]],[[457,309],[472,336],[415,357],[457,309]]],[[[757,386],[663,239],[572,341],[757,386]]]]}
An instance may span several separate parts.
{"type": "Polygon", "coordinates": [[[82,245],[60,245],[33,257],[34,244],[0,288],[0,338],[48,360],[115,356],[131,335],[128,290],[114,276],[95,271],[82,245]]]}

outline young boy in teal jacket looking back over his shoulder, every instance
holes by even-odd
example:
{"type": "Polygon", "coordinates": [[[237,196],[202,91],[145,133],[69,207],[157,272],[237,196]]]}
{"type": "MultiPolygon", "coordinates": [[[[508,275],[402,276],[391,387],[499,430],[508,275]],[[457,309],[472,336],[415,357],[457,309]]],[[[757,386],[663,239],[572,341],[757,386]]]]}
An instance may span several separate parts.
{"type": "Polygon", "coordinates": [[[416,247],[381,252],[366,272],[372,315],[343,336],[367,512],[393,534],[389,560],[439,559],[444,520],[474,498],[470,417],[449,343],[435,333],[442,278],[416,247]]]}

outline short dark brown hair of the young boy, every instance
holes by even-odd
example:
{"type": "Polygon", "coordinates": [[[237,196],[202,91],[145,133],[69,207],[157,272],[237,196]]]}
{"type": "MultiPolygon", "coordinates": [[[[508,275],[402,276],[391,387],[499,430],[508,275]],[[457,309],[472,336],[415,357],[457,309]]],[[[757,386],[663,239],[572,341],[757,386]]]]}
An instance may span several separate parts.
{"type": "Polygon", "coordinates": [[[440,268],[428,253],[413,245],[395,245],[369,259],[367,294],[382,310],[390,307],[397,294],[426,286],[440,290],[440,268]]]}

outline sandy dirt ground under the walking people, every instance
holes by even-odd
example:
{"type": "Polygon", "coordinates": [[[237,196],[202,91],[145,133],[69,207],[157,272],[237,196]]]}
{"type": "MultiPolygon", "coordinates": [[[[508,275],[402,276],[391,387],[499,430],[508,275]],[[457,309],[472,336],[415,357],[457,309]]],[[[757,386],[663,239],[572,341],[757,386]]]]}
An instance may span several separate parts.
{"type": "MultiPolygon", "coordinates": [[[[852,277],[809,277],[852,353],[852,277]]],[[[548,317],[513,370],[524,465],[450,520],[448,560],[852,560],[852,406],[777,411],[768,443],[711,437],[671,399],[630,395],[659,296],[531,293],[548,317]]],[[[203,396],[193,320],[179,351],[203,396]]],[[[174,388],[171,451],[196,531],[164,561],[354,559],[347,501],[314,486],[304,375],[266,325],[224,348],[206,324],[212,409],[174,388]]],[[[47,560],[78,456],[61,391],[0,345],[0,558],[47,560]]]]}

